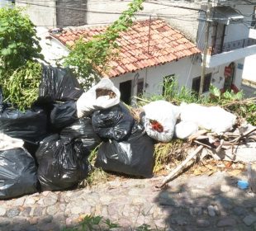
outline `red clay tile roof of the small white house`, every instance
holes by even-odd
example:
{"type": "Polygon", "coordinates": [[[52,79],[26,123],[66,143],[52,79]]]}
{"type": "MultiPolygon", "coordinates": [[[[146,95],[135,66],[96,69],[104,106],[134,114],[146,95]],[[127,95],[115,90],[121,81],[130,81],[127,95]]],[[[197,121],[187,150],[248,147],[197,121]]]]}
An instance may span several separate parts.
{"type": "MultiPolygon", "coordinates": [[[[83,35],[84,41],[88,41],[92,39],[93,35],[102,33],[106,28],[69,29],[59,34],[50,35],[64,45],[72,46],[81,35],[83,35]]],[[[151,21],[150,35],[149,20],[135,21],[128,31],[121,32],[120,35],[121,37],[117,40],[117,44],[120,46],[119,58],[108,64],[110,68],[107,73],[103,73],[103,76],[113,78],[124,73],[166,64],[200,53],[196,45],[162,19],[151,21]]]]}

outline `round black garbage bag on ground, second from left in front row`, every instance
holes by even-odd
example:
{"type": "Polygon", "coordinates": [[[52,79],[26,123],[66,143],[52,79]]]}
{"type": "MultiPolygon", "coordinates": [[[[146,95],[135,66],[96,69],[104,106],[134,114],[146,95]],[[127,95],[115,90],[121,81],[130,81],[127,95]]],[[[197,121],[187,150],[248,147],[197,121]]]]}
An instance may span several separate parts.
{"type": "Polygon", "coordinates": [[[41,190],[64,190],[88,176],[88,155],[79,139],[59,139],[52,134],[36,151],[41,190]]]}

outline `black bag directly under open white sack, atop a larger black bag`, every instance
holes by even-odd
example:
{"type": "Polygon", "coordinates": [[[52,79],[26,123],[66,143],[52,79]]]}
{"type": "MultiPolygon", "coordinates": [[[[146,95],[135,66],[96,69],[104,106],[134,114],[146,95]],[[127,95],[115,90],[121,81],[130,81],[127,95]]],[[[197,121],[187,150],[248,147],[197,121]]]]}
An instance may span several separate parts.
{"type": "Polygon", "coordinates": [[[126,139],[134,123],[130,110],[122,102],[104,110],[94,111],[92,114],[93,129],[103,140],[126,139]]]}

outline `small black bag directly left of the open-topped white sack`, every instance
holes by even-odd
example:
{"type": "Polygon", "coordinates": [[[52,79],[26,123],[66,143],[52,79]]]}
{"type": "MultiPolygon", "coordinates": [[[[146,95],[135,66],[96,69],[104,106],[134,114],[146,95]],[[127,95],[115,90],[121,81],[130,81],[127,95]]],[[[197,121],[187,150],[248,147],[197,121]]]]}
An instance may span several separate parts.
{"type": "Polygon", "coordinates": [[[77,120],[77,106],[75,101],[55,103],[50,111],[50,124],[55,130],[61,130],[77,120]]]}

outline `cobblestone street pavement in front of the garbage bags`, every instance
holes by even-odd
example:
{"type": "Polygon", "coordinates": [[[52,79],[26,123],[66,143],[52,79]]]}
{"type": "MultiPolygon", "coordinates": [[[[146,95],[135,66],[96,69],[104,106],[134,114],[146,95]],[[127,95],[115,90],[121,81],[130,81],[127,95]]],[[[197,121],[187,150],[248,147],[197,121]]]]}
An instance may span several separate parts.
{"type": "MultiPolygon", "coordinates": [[[[245,172],[246,173],[246,172],[245,172]]],[[[102,215],[134,230],[256,230],[256,196],[236,186],[245,175],[182,175],[159,191],[161,177],[123,179],[75,191],[45,191],[0,201],[0,230],[61,230],[84,214],[102,215]]]]}

